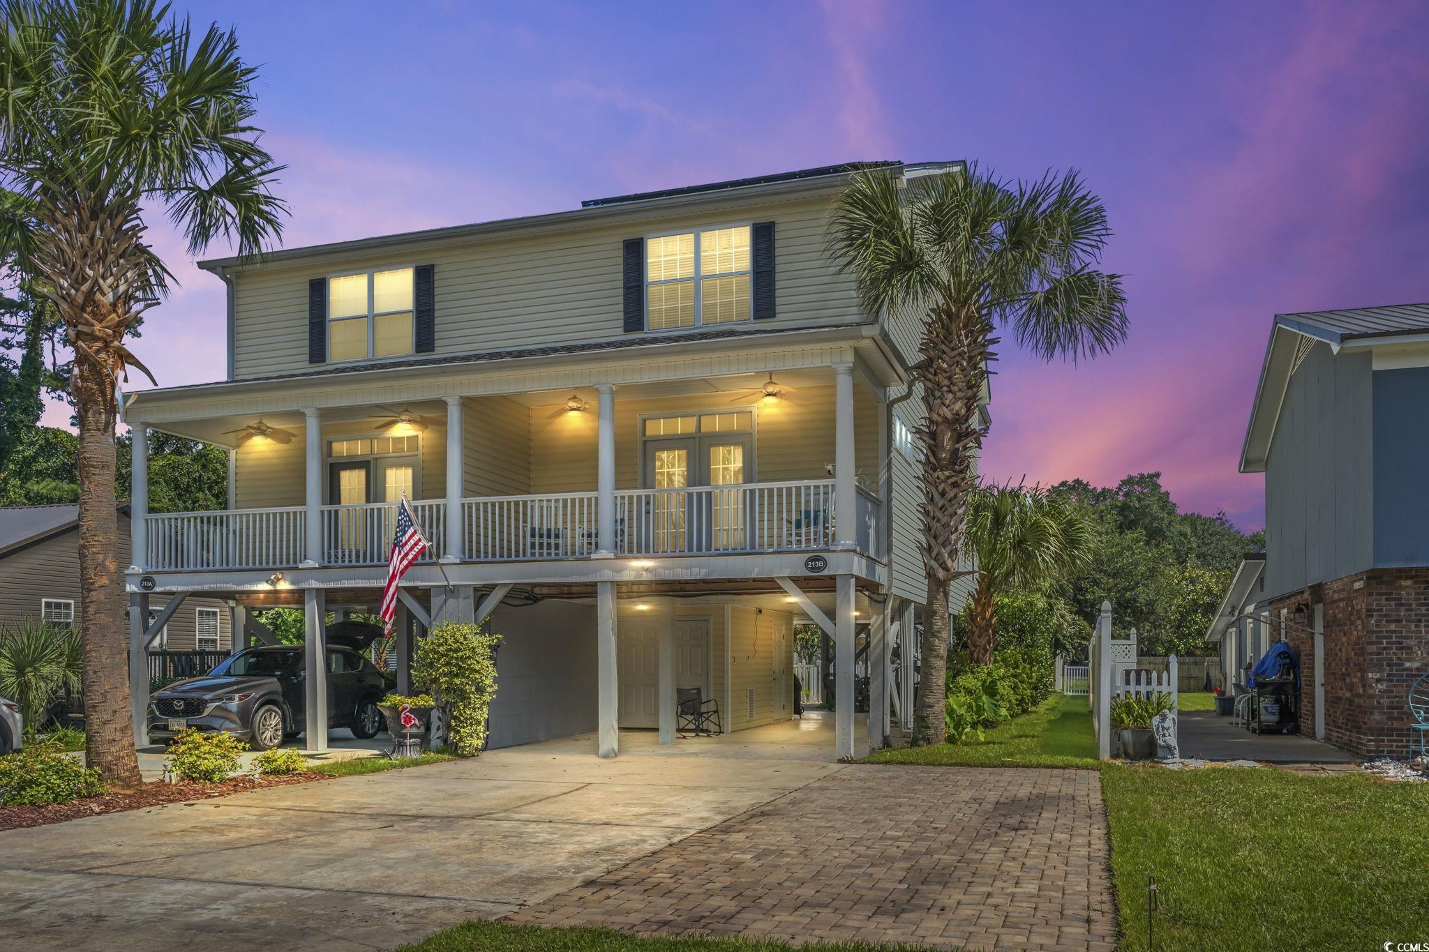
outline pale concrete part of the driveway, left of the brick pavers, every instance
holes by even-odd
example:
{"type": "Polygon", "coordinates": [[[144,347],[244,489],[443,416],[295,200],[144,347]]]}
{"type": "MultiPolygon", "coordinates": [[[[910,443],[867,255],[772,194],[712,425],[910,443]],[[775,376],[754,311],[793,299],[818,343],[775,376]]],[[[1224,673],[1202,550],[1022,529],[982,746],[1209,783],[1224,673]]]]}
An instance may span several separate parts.
{"type": "Polygon", "coordinates": [[[473,761],[0,834],[26,949],[392,948],[540,902],[836,772],[809,719],[600,761],[569,738],[473,761]]]}

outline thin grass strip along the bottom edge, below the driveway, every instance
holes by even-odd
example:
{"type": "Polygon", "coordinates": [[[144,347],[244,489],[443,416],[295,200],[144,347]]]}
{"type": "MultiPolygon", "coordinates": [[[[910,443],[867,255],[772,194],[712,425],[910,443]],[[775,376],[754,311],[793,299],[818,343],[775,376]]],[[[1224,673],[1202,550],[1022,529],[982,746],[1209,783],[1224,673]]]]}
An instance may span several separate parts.
{"type": "MultiPolygon", "coordinates": [[[[783,942],[745,942],[742,939],[684,939],[640,938],[610,929],[543,929],[532,925],[506,925],[473,919],[443,929],[416,945],[403,945],[399,952],[460,952],[464,949],[540,949],[542,952],[783,952],[792,946],[783,942]]],[[[833,942],[816,946],[829,952],[863,952],[873,949],[912,949],[917,946],[867,945],[865,942],[833,942]]]]}

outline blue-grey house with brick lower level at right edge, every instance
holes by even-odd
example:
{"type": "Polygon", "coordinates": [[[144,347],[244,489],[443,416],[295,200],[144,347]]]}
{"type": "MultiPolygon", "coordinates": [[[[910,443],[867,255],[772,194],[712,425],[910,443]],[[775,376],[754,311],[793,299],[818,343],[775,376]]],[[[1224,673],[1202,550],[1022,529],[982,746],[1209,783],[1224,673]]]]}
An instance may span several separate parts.
{"type": "Polygon", "coordinates": [[[1406,756],[1429,671],[1429,304],[1276,315],[1240,471],[1265,472],[1253,609],[1299,652],[1305,732],[1406,756]]]}

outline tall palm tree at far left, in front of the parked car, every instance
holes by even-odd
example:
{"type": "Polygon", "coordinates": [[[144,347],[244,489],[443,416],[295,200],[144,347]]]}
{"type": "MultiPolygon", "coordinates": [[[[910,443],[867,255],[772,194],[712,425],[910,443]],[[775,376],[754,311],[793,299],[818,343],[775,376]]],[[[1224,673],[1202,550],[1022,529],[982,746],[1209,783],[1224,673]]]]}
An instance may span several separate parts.
{"type": "Polygon", "coordinates": [[[140,782],[129,715],[124,579],[114,511],[116,388],[124,344],[171,278],[144,243],[163,208],[197,254],[223,237],[257,254],[282,230],[269,191],[280,167],[259,146],[254,70],[231,31],[151,0],[0,1],[0,251],[43,278],[74,350],[79,422],[80,605],[90,764],[140,782]]]}

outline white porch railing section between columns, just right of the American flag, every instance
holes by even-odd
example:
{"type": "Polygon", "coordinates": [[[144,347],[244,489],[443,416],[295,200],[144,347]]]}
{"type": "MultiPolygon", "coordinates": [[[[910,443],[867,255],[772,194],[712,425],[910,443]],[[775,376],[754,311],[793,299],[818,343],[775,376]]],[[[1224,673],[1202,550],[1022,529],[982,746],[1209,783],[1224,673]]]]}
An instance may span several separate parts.
{"type": "Polygon", "coordinates": [[[466,558],[582,558],[596,551],[596,494],[496,495],[462,500],[466,558]]]}

